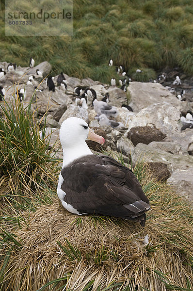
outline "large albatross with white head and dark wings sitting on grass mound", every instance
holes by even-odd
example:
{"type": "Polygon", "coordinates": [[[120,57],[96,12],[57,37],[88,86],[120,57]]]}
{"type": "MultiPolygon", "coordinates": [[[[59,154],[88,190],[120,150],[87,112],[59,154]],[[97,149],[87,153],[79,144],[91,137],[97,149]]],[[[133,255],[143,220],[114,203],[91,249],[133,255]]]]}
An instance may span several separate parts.
{"type": "Polygon", "coordinates": [[[79,215],[136,220],[145,226],[149,200],[133,172],[111,157],[93,154],[86,139],[101,145],[105,141],[84,120],[64,120],[60,129],[64,159],[57,188],[64,208],[79,215]]]}

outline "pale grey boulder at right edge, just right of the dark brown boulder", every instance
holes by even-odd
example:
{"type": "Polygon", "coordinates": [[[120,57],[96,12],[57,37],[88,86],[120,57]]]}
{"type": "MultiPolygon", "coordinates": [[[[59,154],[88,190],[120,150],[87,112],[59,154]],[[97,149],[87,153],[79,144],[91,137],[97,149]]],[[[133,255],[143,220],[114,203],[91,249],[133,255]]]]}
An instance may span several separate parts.
{"type": "Polygon", "coordinates": [[[190,155],[193,155],[193,129],[186,129],[182,132],[173,132],[169,134],[164,141],[175,142],[187,150],[190,155]]]}

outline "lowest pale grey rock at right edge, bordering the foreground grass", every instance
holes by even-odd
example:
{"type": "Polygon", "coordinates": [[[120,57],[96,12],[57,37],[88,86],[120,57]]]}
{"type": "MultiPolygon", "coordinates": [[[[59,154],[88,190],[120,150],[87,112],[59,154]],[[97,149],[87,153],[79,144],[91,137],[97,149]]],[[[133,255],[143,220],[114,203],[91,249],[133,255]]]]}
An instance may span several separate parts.
{"type": "Polygon", "coordinates": [[[193,201],[193,167],[175,170],[167,179],[167,184],[173,185],[180,196],[185,196],[189,201],[193,201]]]}

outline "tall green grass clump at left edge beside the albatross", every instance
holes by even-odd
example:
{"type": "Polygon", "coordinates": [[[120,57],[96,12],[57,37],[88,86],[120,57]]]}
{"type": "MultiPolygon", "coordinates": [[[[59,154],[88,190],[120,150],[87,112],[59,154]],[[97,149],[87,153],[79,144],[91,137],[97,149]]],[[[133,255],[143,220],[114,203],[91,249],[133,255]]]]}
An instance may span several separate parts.
{"type": "Polygon", "coordinates": [[[36,204],[51,201],[48,192],[53,189],[57,164],[51,157],[53,147],[49,147],[46,121],[38,119],[31,107],[32,100],[24,107],[15,95],[10,102],[0,103],[2,215],[6,209],[19,214],[20,210],[34,210],[36,204]]]}

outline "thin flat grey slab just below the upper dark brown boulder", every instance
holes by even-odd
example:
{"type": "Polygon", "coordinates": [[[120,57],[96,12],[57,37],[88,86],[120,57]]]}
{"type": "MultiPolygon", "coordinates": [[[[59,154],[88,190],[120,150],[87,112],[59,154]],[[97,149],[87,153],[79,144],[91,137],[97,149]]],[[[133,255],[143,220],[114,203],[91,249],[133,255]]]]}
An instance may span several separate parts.
{"type": "Polygon", "coordinates": [[[187,150],[175,142],[151,142],[148,146],[174,155],[189,155],[187,150]]]}

